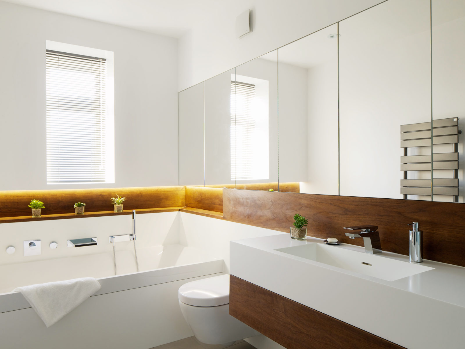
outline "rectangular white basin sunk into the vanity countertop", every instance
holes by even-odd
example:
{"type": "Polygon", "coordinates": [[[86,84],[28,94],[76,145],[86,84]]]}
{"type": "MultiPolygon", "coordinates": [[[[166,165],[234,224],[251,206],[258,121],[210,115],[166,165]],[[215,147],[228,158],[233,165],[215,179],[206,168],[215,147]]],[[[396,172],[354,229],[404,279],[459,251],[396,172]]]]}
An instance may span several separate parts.
{"type": "Polygon", "coordinates": [[[275,251],[356,273],[374,276],[386,281],[394,281],[434,269],[416,263],[397,261],[381,255],[370,255],[364,252],[314,242],[299,246],[277,248],[275,251]]]}

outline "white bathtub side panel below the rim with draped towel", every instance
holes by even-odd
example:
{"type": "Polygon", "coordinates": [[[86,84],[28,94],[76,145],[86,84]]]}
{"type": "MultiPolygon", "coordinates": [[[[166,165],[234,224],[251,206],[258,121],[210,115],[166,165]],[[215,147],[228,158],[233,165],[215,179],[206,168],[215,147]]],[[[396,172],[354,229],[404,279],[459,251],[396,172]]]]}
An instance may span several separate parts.
{"type": "Polygon", "coordinates": [[[1,348],[147,349],[193,336],[177,292],[197,279],[90,297],[48,329],[32,308],[1,313],[1,348]]]}

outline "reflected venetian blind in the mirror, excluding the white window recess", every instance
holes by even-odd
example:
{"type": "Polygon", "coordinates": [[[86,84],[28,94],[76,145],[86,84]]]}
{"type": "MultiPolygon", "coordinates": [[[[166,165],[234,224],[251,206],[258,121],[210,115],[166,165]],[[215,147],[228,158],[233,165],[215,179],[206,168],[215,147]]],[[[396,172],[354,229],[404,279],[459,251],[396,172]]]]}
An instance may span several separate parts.
{"type": "Polygon", "coordinates": [[[231,81],[231,180],[252,179],[255,85],[231,81]]]}

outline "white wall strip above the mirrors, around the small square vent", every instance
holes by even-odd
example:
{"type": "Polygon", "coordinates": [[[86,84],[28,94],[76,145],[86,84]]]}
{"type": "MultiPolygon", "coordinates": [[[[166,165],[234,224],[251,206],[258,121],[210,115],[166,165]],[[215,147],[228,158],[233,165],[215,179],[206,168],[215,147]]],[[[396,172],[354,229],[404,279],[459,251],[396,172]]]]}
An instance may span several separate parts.
{"type": "Polygon", "coordinates": [[[179,40],[179,91],[380,3],[379,0],[237,0],[213,3],[179,40]],[[235,37],[236,17],[252,10],[253,32],[235,37]]]}

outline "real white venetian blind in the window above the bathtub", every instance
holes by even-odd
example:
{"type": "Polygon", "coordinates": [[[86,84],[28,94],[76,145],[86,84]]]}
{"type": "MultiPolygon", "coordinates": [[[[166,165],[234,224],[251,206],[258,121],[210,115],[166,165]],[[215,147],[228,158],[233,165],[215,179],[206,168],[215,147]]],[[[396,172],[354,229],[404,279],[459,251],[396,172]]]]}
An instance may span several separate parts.
{"type": "Polygon", "coordinates": [[[106,60],[46,50],[47,183],[106,181],[106,60]]]}

